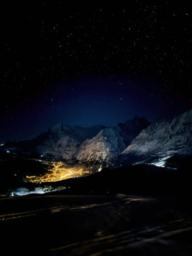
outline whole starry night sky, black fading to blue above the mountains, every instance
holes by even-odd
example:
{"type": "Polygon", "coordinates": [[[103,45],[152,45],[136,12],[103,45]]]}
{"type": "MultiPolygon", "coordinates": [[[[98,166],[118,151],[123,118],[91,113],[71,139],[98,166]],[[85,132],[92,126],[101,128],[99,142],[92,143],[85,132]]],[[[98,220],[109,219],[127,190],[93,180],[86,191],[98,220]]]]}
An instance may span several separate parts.
{"type": "Polygon", "coordinates": [[[1,143],[192,107],[190,1],[79,2],[0,4],[1,143]]]}

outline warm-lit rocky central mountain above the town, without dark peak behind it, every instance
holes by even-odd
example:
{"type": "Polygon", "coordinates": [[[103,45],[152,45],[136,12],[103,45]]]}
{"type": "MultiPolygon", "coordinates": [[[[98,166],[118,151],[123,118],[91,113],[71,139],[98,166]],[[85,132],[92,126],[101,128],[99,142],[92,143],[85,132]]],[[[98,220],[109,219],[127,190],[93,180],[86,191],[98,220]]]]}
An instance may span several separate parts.
{"type": "Polygon", "coordinates": [[[82,143],[76,159],[78,162],[112,164],[125,148],[119,131],[115,128],[105,128],[92,139],[82,143]]]}

